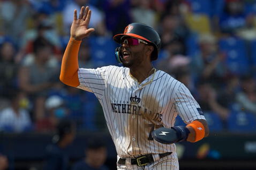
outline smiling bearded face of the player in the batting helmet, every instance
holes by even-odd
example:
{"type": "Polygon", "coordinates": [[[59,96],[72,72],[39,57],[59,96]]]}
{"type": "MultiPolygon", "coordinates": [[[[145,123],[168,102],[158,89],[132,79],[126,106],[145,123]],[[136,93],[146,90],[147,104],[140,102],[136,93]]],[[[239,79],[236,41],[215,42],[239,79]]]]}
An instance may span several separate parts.
{"type": "Polygon", "coordinates": [[[139,66],[146,59],[146,44],[131,45],[122,41],[122,53],[124,67],[139,66]]]}

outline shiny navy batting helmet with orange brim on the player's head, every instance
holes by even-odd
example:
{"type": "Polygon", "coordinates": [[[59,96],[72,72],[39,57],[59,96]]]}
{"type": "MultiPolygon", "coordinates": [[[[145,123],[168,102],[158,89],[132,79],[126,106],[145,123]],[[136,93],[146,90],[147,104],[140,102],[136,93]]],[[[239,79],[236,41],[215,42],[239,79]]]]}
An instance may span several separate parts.
{"type": "Polygon", "coordinates": [[[161,39],[155,29],[145,24],[132,23],[125,27],[123,34],[117,34],[113,38],[117,43],[121,44],[121,38],[125,35],[139,38],[153,45],[154,51],[152,53],[151,60],[157,59],[158,52],[161,47],[161,39]]]}

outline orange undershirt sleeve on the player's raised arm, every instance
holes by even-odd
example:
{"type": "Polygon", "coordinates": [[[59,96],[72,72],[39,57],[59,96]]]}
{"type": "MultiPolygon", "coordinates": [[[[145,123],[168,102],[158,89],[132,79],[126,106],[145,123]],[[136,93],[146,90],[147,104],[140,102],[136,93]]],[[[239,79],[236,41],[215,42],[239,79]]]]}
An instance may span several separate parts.
{"type": "Polygon", "coordinates": [[[71,37],[62,58],[59,80],[72,87],[77,87],[80,84],[78,79],[78,51],[80,44],[81,41],[74,40],[71,37]]]}

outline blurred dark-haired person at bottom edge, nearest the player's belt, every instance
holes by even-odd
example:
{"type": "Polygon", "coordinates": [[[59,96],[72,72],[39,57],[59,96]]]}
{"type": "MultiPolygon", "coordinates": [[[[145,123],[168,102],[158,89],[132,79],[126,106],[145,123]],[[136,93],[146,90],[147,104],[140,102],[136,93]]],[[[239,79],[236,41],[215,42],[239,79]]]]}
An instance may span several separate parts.
{"type": "Polygon", "coordinates": [[[107,148],[103,138],[93,136],[88,139],[85,158],[74,164],[72,170],[108,170],[104,165],[107,158],[107,148]]]}

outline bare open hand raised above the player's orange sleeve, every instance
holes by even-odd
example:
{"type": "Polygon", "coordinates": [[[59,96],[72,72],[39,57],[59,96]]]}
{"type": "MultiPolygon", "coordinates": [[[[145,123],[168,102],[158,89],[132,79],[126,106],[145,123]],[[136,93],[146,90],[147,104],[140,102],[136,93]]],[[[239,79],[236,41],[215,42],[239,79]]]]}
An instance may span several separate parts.
{"type": "Polygon", "coordinates": [[[92,11],[89,7],[82,6],[79,17],[77,18],[77,10],[74,10],[74,19],[70,29],[70,35],[76,40],[82,40],[82,38],[89,36],[94,28],[88,28],[92,11]]]}

